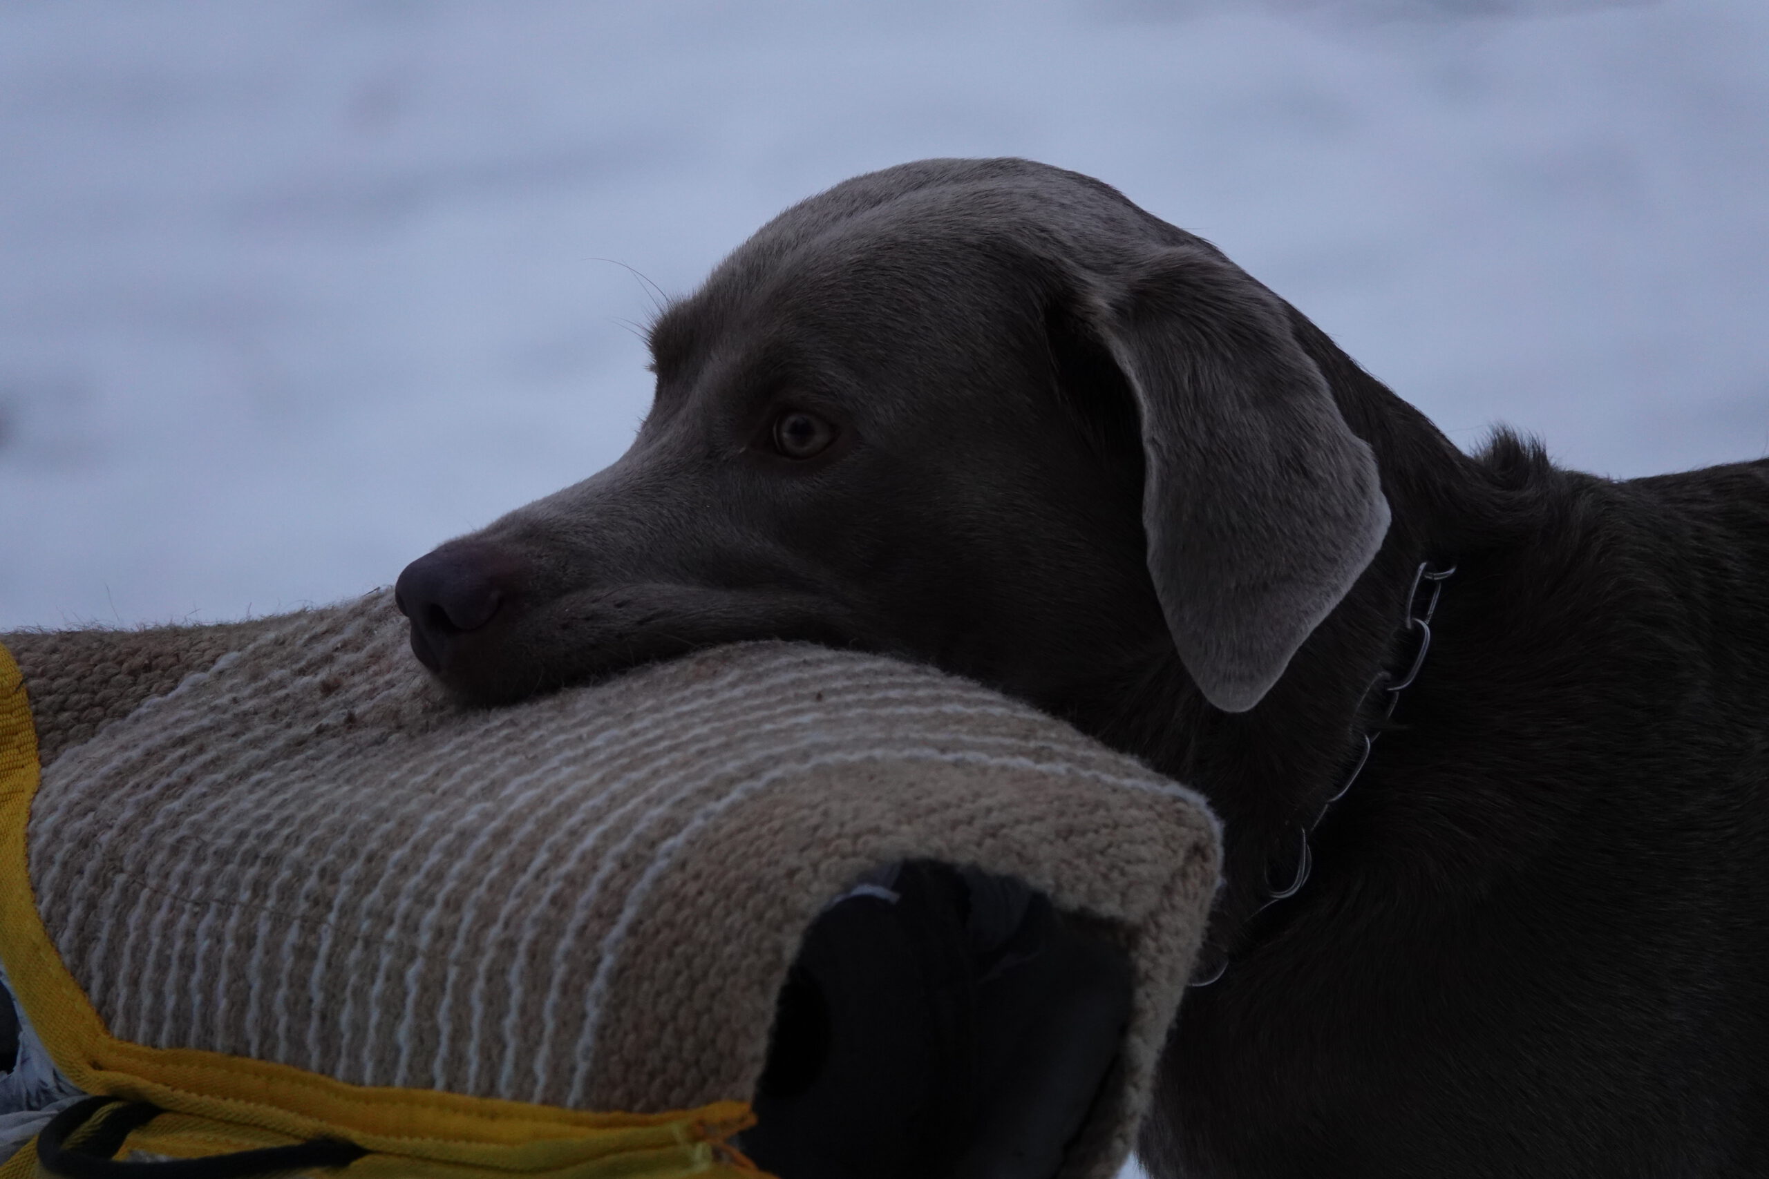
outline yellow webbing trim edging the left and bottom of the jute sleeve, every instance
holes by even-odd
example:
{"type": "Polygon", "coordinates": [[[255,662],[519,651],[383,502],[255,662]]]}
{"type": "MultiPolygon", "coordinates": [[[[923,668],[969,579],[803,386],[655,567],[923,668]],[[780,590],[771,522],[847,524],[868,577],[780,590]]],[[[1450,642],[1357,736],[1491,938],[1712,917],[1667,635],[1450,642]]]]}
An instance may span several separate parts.
{"type": "MultiPolygon", "coordinates": [[[[0,962],[55,1066],[90,1094],[166,1110],[127,1151],[200,1158],[347,1138],[370,1151],[345,1170],[393,1179],[665,1179],[757,1172],[725,1138],[754,1122],[743,1101],[670,1114],[587,1114],[432,1089],[350,1085],[306,1069],[113,1038],[37,914],[27,822],[37,735],[25,679],[0,645],[0,962]]],[[[0,1179],[35,1174],[23,1147],[0,1179]]]]}

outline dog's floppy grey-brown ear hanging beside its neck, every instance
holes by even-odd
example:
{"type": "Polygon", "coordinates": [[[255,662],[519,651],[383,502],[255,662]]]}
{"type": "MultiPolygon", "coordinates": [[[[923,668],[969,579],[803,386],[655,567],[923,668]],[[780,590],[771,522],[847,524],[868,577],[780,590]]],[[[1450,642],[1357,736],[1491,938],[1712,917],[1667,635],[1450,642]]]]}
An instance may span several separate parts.
{"type": "Polygon", "coordinates": [[[1141,417],[1148,571],[1168,629],[1210,704],[1242,712],[1382,546],[1375,454],[1284,304],[1206,246],[1091,286],[1141,417]]]}

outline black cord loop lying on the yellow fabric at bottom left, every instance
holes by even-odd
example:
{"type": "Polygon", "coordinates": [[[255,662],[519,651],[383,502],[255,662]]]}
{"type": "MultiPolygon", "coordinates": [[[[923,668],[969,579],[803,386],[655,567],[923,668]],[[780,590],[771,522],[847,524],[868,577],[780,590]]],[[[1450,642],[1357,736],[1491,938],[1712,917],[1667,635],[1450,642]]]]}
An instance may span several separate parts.
{"type": "Polygon", "coordinates": [[[87,1098],[57,1114],[37,1135],[37,1163],[60,1179],[253,1179],[318,1167],[348,1167],[368,1154],[354,1142],[313,1138],[295,1145],[262,1151],[235,1151],[209,1158],[180,1158],[166,1163],[119,1163],[124,1140],[159,1117],[161,1108],[147,1101],[122,1103],[119,1098],[87,1098]],[[78,1142],[69,1138],[92,1122],[108,1105],[120,1108],[103,1119],[78,1142]]]}

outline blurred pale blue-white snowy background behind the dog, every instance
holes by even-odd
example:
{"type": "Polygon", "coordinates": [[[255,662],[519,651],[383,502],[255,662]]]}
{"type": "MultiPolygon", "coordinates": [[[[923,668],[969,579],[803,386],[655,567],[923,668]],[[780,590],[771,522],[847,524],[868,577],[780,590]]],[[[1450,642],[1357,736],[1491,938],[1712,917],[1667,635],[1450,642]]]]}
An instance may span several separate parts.
{"type": "Polygon", "coordinates": [[[1463,445],[1769,453],[1762,0],[0,0],[0,629],[387,583],[624,449],[633,270],[994,154],[1463,445]]]}

